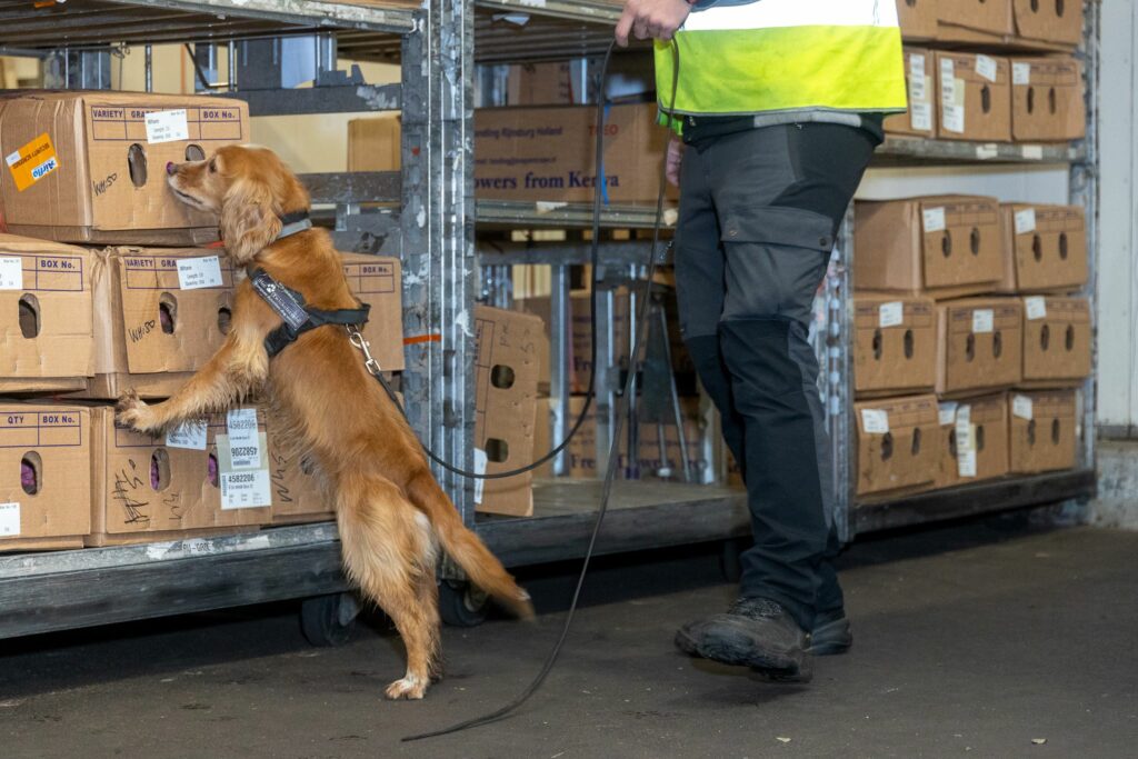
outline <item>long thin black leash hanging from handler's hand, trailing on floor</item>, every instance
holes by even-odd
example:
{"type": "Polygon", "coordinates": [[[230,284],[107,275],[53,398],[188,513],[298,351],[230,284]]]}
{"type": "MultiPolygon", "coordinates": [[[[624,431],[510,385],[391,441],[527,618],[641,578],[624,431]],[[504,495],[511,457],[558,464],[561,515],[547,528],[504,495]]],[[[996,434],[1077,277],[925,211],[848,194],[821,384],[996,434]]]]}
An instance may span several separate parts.
{"type": "MultiPolygon", "coordinates": [[[[601,168],[603,166],[603,154],[604,154],[604,83],[605,83],[605,81],[608,79],[609,59],[612,56],[612,49],[613,49],[615,44],[616,44],[615,42],[612,42],[612,43],[609,44],[609,49],[604,53],[604,64],[601,67],[601,83],[600,83],[600,92],[599,92],[599,97],[597,97],[597,107],[596,107],[596,124],[597,124],[597,130],[596,130],[596,167],[597,167],[597,174],[602,174],[603,173],[601,171],[601,168]]],[[[669,104],[669,108],[668,108],[668,113],[669,114],[675,110],[675,105],[676,105],[676,89],[677,89],[677,85],[679,83],[679,48],[676,46],[675,41],[671,42],[671,46],[673,46],[673,55],[674,55],[673,60],[675,60],[675,65],[674,65],[674,68],[673,68],[671,102],[669,104]]],[[[669,118],[669,126],[670,126],[670,119],[671,119],[671,117],[669,116],[668,118],[669,118]]],[[[660,174],[661,174],[660,175],[660,192],[659,192],[659,195],[657,196],[657,199],[655,199],[655,225],[654,225],[653,231],[652,231],[652,248],[651,248],[651,254],[650,254],[649,261],[648,261],[648,280],[646,281],[648,281],[649,287],[651,287],[652,280],[655,277],[655,263],[657,263],[655,249],[657,249],[657,246],[659,245],[659,241],[660,241],[660,229],[661,229],[662,222],[663,222],[663,195],[665,195],[665,189],[667,187],[667,171],[668,171],[668,162],[667,162],[667,158],[665,158],[665,162],[663,162],[663,165],[661,166],[661,172],[660,172],[660,174]]],[[[602,179],[602,181],[603,181],[603,179],[602,179]]],[[[601,225],[600,190],[596,190],[595,195],[594,195],[594,200],[593,200],[593,275],[594,275],[594,279],[595,279],[596,271],[597,271],[597,269],[596,269],[597,244],[599,244],[599,234],[597,234],[597,232],[600,231],[600,225],[601,225]]],[[[592,396],[592,390],[593,390],[593,371],[595,371],[595,368],[596,368],[596,283],[595,283],[595,281],[594,281],[594,287],[593,287],[593,298],[592,298],[592,300],[593,300],[593,304],[592,304],[592,310],[593,310],[593,369],[591,369],[591,371],[589,371],[589,395],[591,396],[592,396]]],[[[632,352],[632,356],[630,356],[632,361],[629,362],[628,376],[625,378],[624,391],[622,391],[622,394],[620,396],[620,401],[619,401],[619,404],[617,406],[616,424],[613,426],[613,430],[612,430],[612,440],[609,444],[609,465],[608,465],[608,468],[604,471],[604,482],[603,482],[603,486],[601,488],[600,508],[599,508],[599,511],[596,512],[596,520],[593,522],[593,533],[592,533],[592,535],[588,538],[588,547],[585,550],[585,558],[582,561],[580,574],[577,576],[577,586],[574,589],[572,601],[569,604],[569,612],[566,616],[566,621],[564,621],[564,625],[561,628],[561,635],[560,635],[560,637],[558,637],[558,642],[553,645],[553,649],[550,651],[549,655],[546,657],[545,663],[542,667],[542,670],[537,674],[537,677],[535,677],[534,680],[529,684],[529,686],[526,687],[526,690],[522,691],[521,694],[518,695],[510,703],[508,703],[504,707],[502,707],[502,708],[500,708],[500,709],[497,709],[495,711],[492,711],[492,712],[489,712],[487,715],[483,715],[481,717],[475,717],[473,719],[467,719],[464,721],[457,723],[457,724],[452,725],[450,727],[444,727],[443,729],[431,731],[429,733],[420,733],[418,735],[409,735],[409,736],[406,736],[406,737],[403,739],[403,742],[420,741],[420,740],[429,739],[429,737],[438,737],[440,735],[450,735],[452,733],[459,733],[461,731],[465,731],[465,729],[469,729],[471,727],[479,727],[481,725],[489,725],[490,723],[496,723],[500,719],[504,719],[511,712],[513,712],[516,709],[518,709],[521,704],[523,704],[529,699],[529,696],[534,695],[534,693],[536,693],[538,691],[538,688],[542,687],[542,684],[545,683],[545,678],[549,676],[549,674],[553,670],[553,666],[556,663],[558,657],[561,653],[561,647],[564,645],[566,638],[569,637],[569,629],[572,626],[574,614],[576,614],[576,612],[577,612],[577,602],[580,599],[580,591],[582,591],[582,587],[584,587],[584,585],[585,585],[585,577],[588,574],[588,564],[589,564],[589,561],[593,559],[593,552],[594,552],[594,550],[596,547],[596,537],[601,533],[601,523],[604,521],[604,514],[605,514],[605,512],[609,509],[609,498],[610,498],[610,496],[612,494],[612,484],[616,480],[616,476],[617,476],[617,464],[618,464],[618,461],[619,461],[618,446],[620,444],[620,435],[622,432],[624,422],[628,418],[628,402],[629,402],[629,397],[630,397],[632,391],[633,391],[633,383],[635,382],[635,379],[636,379],[636,370],[635,370],[636,357],[641,353],[641,346],[644,344],[645,335],[648,332],[648,330],[646,330],[648,302],[649,302],[649,298],[642,298],[641,299],[641,304],[640,304],[640,307],[638,307],[638,313],[636,315],[636,339],[633,343],[633,352],[632,352]]],[[[388,388],[388,393],[390,393],[389,388],[388,388]]],[[[586,411],[588,409],[587,402],[586,402],[585,409],[586,409],[586,411]]],[[[582,413],[582,418],[580,419],[584,419],[584,412],[582,413]]],[[[580,426],[580,419],[578,419],[577,426],[569,434],[569,438],[572,437],[574,432],[577,431],[577,427],[580,426]]],[[[568,443],[568,442],[569,440],[567,439],[566,443],[568,443]]],[[[558,449],[560,449],[561,447],[564,447],[564,444],[562,444],[561,446],[559,446],[558,449]]],[[[555,453],[556,453],[556,451],[553,452],[553,454],[555,454],[555,453]]],[[[551,456],[553,454],[551,454],[551,456]]],[[[434,455],[431,455],[431,457],[434,459],[434,455]]],[[[550,457],[550,456],[546,456],[546,459],[547,457],[550,457]]],[[[450,469],[450,467],[447,467],[447,469],[450,469]]],[[[454,470],[452,470],[452,471],[454,471],[454,470]]]]}

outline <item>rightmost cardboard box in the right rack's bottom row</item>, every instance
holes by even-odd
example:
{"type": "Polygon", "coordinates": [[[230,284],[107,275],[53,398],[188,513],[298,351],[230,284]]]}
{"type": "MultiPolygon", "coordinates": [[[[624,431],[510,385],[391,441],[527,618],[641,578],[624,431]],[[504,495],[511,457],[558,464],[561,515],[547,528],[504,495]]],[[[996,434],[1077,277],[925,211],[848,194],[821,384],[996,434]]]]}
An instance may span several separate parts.
{"type": "Polygon", "coordinates": [[[1075,465],[1079,439],[1074,390],[1013,393],[1011,470],[1033,475],[1075,465]]]}

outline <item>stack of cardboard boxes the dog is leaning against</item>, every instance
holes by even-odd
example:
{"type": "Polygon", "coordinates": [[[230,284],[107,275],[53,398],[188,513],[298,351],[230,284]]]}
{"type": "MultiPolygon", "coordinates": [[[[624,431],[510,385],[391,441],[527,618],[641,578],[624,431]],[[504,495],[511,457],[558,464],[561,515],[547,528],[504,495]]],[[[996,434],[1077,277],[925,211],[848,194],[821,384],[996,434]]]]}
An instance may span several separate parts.
{"type": "MultiPolygon", "coordinates": [[[[0,99],[0,551],[114,545],[323,519],[329,505],[257,405],[155,438],[115,423],[221,346],[239,277],[167,162],[247,142],[245,104],[18,91],[0,99]],[[158,247],[163,246],[163,247],[158,247]]],[[[346,256],[368,337],[403,368],[395,259],[346,256]]]]}

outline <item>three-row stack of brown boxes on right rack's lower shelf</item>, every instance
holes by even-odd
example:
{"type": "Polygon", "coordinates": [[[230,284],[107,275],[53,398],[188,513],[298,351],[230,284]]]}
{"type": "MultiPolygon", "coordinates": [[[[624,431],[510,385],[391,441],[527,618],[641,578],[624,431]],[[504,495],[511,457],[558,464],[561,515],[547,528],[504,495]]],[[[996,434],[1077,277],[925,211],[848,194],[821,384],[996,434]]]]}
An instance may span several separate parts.
{"type": "Polygon", "coordinates": [[[859,203],[857,492],[1075,464],[1090,374],[1082,211],[943,196],[859,203]]]}

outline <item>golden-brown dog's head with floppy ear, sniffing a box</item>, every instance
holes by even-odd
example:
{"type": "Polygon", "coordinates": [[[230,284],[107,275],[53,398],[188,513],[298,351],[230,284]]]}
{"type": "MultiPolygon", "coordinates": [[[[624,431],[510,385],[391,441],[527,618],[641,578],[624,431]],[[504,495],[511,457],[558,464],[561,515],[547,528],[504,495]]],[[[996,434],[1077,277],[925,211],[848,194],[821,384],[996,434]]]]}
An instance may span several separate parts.
{"type": "Polygon", "coordinates": [[[267,148],[226,146],[205,160],[166,164],[166,174],[179,200],[217,214],[225,250],[238,265],[277,239],[282,215],[310,205],[296,175],[267,148]]]}

